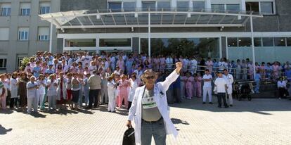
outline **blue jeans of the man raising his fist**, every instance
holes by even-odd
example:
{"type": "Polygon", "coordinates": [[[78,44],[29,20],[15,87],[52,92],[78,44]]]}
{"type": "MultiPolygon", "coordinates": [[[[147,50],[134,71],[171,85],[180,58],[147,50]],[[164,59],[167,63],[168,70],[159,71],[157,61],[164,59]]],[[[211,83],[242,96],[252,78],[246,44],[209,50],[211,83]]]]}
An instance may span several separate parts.
{"type": "Polygon", "coordinates": [[[164,120],[160,119],[155,123],[141,121],[141,145],[150,145],[154,137],[155,144],[166,144],[166,129],[164,127],[164,120]]]}

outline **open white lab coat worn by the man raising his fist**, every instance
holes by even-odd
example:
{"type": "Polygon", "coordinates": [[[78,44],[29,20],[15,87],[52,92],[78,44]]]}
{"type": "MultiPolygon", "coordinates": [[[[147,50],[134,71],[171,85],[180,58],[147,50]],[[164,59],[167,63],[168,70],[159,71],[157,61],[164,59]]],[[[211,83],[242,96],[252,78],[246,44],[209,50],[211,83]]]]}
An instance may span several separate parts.
{"type": "MultiPolygon", "coordinates": [[[[168,103],[167,103],[167,89],[169,89],[169,85],[174,82],[179,75],[172,72],[164,82],[157,82],[154,88],[154,100],[157,103],[157,108],[159,109],[162,118],[164,119],[164,127],[167,131],[167,134],[173,134],[174,137],[177,137],[178,132],[174,127],[172,120],[169,118],[168,112],[168,103]],[[161,93],[162,92],[162,93],[161,93]]],[[[136,89],[136,93],[134,94],[134,101],[132,102],[131,108],[129,109],[128,120],[134,120],[135,124],[135,138],[136,144],[141,144],[141,100],[143,98],[143,91],[145,86],[138,87],[136,89]]]]}

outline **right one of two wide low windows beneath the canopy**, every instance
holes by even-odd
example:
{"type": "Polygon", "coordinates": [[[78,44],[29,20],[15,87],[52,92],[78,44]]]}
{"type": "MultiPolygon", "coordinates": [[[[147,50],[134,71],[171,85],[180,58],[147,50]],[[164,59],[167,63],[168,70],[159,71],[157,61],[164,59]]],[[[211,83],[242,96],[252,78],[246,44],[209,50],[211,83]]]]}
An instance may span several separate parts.
{"type": "Polygon", "coordinates": [[[99,46],[131,46],[131,39],[100,39],[99,46]]]}

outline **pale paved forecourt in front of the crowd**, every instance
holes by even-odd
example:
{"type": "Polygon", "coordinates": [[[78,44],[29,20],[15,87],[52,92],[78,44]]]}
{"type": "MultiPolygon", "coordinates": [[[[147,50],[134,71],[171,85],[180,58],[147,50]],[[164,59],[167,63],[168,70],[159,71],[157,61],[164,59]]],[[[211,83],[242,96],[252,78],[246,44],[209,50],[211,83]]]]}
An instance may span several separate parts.
{"type": "MultiPolygon", "coordinates": [[[[183,100],[171,107],[179,136],[167,136],[167,144],[291,144],[290,104],[286,99],[253,99],[217,108],[217,103],[202,104],[198,98],[183,100]]],[[[122,144],[127,113],[108,113],[105,107],[32,115],[0,111],[0,144],[122,144]]]]}

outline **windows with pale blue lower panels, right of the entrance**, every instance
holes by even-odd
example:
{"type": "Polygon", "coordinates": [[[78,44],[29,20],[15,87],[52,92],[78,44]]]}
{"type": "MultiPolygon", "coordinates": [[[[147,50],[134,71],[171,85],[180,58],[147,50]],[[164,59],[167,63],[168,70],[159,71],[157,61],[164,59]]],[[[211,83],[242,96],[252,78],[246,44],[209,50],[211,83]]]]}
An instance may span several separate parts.
{"type": "MultiPolygon", "coordinates": [[[[235,39],[228,38],[228,59],[252,59],[251,38],[237,38],[238,46],[235,46],[235,39]]],[[[290,37],[255,37],[254,46],[256,62],[290,61],[290,37]]]]}

